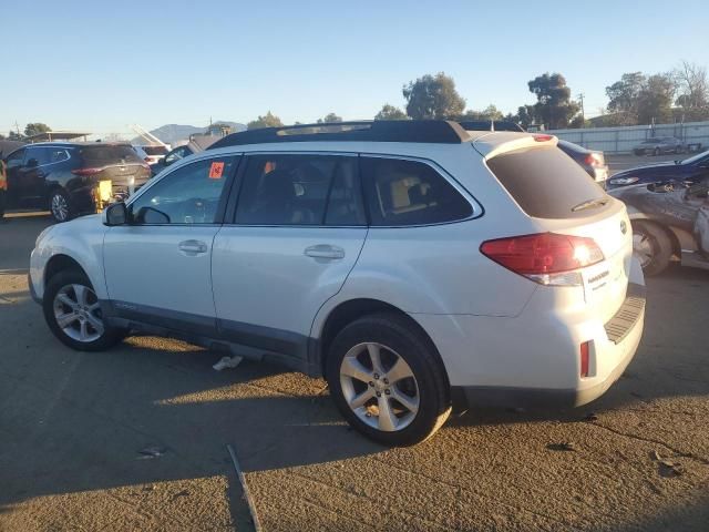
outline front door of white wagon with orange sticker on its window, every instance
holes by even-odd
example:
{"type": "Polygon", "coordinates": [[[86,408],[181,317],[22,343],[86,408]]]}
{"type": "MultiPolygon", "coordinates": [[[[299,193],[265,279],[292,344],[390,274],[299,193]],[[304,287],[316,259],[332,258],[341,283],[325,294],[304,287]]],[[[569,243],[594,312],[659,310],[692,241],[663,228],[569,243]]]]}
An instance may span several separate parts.
{"type": "Polygon", "coordinates": [[[119,317],[210,336],[212,246],[239,157],[169,171],[127,206],[129,224],[104,238],[111,310],[119,317]]]}

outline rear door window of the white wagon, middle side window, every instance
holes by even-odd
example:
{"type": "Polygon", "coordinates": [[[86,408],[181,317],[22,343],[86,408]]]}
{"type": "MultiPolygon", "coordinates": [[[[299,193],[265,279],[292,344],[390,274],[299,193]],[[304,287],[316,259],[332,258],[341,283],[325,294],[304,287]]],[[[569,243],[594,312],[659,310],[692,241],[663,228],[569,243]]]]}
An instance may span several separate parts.
{"type": "Polygon", "coordinates": [[[249,225],[364,225],[357,157],[253,155],[236,223],[249,225]]]}

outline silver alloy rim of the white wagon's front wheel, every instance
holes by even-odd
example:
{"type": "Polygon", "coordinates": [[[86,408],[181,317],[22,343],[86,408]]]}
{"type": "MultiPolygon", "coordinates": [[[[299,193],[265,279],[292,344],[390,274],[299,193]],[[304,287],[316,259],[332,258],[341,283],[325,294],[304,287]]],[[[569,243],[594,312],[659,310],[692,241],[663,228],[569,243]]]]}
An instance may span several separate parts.
{"type": "Polygon", "coordinates": [[[88,286],[72,284],[60,288],[53,309],[56,325],[73,340],[95,341],[105,330],[99,298],[88,286]]]}

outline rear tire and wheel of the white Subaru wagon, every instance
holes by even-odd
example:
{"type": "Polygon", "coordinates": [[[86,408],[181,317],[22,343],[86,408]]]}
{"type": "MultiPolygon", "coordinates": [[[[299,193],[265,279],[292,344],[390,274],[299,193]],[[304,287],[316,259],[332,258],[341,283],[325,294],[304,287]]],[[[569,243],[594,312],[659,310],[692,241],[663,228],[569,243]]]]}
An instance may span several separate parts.
{"type": "Polygon", "coordinates": [[[435,349],[395,314],[366,316],[345,327],[329,349],[326,377],[345,419],[379,443],[420,443],[451,413],[450,387],[435,349]],[[379,354],[381,372],[371,351],[379,354]]]}

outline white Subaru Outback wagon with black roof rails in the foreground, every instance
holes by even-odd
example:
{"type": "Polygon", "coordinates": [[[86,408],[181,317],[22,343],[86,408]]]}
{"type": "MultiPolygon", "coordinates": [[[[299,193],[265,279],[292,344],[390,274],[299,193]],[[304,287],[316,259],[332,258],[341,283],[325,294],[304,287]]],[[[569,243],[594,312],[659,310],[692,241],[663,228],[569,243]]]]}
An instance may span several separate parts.
{"type": "Polygon", "coordinates": [[[451,405],[583,405],[645,290],[623,203],[551,135],[445,121],[228,135],[45,229],[30,286],[82,350],[131,331],[325,376],[345,418],[424,440],[451,405]]]}

